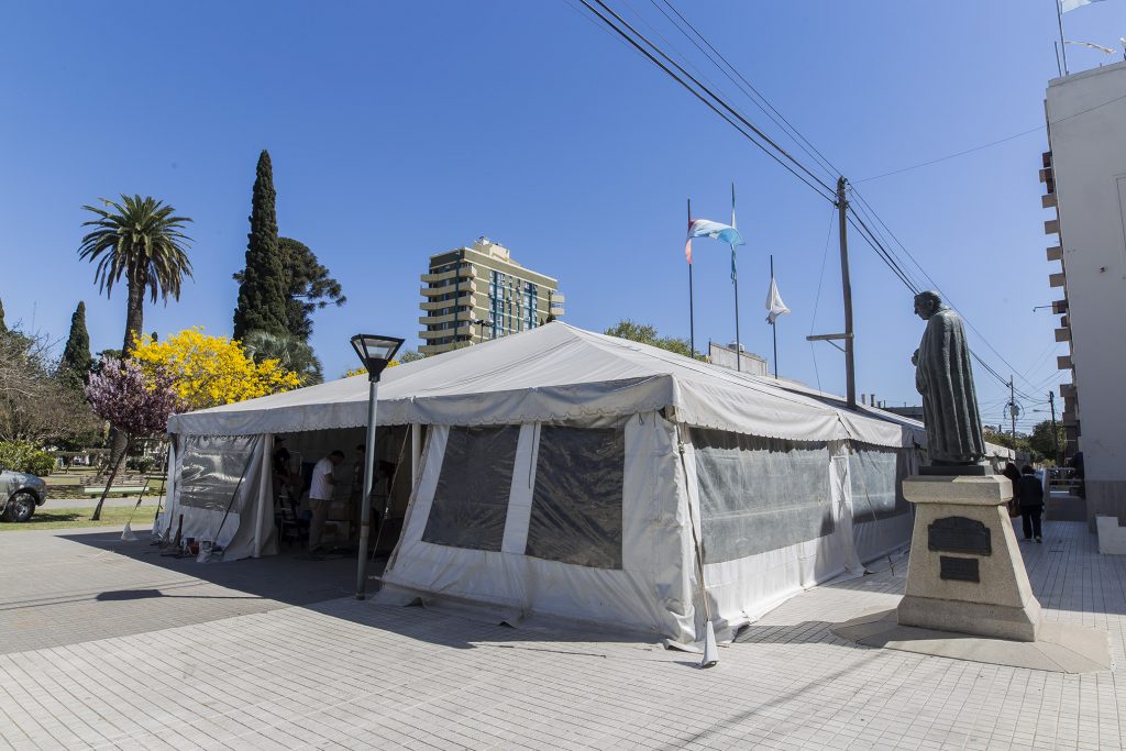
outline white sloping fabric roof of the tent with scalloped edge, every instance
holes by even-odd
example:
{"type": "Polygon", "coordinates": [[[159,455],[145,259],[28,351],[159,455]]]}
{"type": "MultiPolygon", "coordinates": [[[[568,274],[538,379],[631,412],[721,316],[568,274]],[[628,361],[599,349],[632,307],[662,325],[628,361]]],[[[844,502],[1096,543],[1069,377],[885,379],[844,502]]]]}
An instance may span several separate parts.
{"type": "MultiPolygon", "coordinates": [[[[367,424],[367,378],[173,415],[169,432],[253,435],[367,424]]],[[[689,426],[790,440],[924,444],[920,423],[562,322],[388,368],[378,424],[495,424],[672,408],[689,426]]]]}

